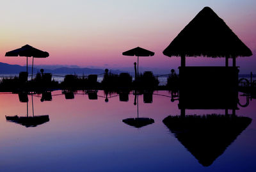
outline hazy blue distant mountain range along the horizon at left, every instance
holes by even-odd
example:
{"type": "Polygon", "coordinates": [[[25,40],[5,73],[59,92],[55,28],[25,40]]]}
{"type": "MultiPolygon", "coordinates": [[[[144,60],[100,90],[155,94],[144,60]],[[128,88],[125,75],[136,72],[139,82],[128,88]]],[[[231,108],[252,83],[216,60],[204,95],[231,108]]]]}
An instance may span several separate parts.
{"type": "MultiPolygon", "coordinates": [[[[31,73],[31,66],[28,66],[28,71],[31,73]]],[[[20,65],[10,65],[8,63],[1,63],[0,62],[0,74],[19,74],[19,72],[25,71],[26,66],[20,65]]],[[[113,74],[120,74],[122,70],[110,70],[113,74]]],[[[34,68],[34,74],[40,72],[40,68],[34,68]]],[[[104,70],[100,68],[68,68],[68,67],[61,67],[56,69],[47,69],[44,68],[45,73],[52,73],[52,74],[103,74],[104,70]]]]}

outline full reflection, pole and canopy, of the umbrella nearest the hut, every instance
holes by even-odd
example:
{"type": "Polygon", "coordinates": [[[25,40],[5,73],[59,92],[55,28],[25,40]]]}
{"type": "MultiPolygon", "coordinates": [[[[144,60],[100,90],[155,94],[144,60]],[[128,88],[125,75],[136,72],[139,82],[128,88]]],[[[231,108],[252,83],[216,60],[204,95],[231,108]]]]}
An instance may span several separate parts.
{"type": "Polygon", "coordinates": [[[141,128],[146,125],[154,123],[155,121],[152,118],[139,118],[139,102],[138,102],[139,97],[135,92],[134,105],[136,105],[136,97],[137,97],[137,118],[127,118],[127,119],[124,119],[123,122],[136,128],[141,128]]]}

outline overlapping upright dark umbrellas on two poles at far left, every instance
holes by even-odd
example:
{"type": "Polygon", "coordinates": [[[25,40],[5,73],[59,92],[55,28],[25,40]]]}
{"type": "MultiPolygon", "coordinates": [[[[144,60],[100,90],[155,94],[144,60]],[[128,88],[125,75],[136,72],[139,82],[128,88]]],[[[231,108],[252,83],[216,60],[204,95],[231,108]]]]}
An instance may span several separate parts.
{"type": "Polygon", "coordinates": [[[40,51],[27,44],[21,47],[20,49],[15,49],[13,51],[6,52],[5,56],[27,57],[27,72],[28,72],[28,57],[33,57],[33,61],[32,61],[32,78],[33,78],[34,58],[47,58],[49,56],[49,53],[46,51],[40,51]]]}

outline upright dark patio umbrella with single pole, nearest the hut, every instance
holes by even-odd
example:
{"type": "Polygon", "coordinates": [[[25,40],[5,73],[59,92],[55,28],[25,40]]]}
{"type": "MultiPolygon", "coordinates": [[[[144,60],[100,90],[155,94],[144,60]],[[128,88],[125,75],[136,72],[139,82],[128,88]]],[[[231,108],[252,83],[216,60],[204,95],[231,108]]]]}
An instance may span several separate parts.
{"type": "Polygon", "coordinates": [[[143,49],[141,47],[136,47],[136,48],[131,49],[129,51],[125,51],[122,54],[124,56],[137,56],[138,57],[137,73],[139,74],[139,56],[142,56],[142,57],[154,56],[155,52],[148,51],[148,50],[143,49]]]}

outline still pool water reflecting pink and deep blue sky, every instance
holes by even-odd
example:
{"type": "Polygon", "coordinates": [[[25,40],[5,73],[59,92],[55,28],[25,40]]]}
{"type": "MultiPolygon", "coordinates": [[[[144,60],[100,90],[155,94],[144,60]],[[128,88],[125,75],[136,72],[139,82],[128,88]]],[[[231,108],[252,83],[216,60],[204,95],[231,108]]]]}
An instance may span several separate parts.
{"type": "MultiPolygon", "coordinates": [[[[71,100],[61,91],[51,94],[52,101],[44,102],[40,95],[33,96],[35,116],[49,115],[48,122],[36,127],[6,121],[5,116],[26,116],[27,105],[17,94],[0,94],[0,171],[256,171],[255,99],[236,111],[237,116],[252,118],[252,123],[205,167],[163,123],[167,116],[180,114],[179,101],[171,102],[168,91],[155,91],[151,104],[139,96],[139,116],[154,119],[141,128],[122,121],[137,117],[132,94],[128,102],[120,102],[118,95],[105,102],[103,91],[97,100],[89,100],[83,92],[71,100]]],[[[31,95],[28,98],[32,116],[31,95]]],[[[239,99],[246,102],[246,97],[239,99]]],[[[186,110],[186,114],[225,111],[186,110]]]]}

